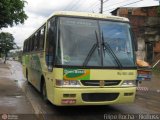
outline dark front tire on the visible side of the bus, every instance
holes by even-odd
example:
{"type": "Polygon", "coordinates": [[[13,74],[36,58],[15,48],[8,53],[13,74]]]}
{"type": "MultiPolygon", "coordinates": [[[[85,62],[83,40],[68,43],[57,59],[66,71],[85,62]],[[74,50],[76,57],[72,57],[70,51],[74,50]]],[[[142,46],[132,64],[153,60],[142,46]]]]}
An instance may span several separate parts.
{"type": "Polygon", "coordinates": [[[41,80],[41,94],[42,94],[43,100],[47,103],[48,98],[47,98],[47,90],[46,90],[46,83],[45,83],[44,77],[42,77],[42,80],[41,80]]]}

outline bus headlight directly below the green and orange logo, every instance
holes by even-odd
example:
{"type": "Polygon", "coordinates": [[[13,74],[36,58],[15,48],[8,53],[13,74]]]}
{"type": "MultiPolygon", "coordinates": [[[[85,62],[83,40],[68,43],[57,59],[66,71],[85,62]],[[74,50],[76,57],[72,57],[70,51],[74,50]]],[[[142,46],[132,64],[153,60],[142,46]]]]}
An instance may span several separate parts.
{"type": "Polygon", "coordinates": [[[80,87],[78,80],[56,80],[56,86],[58,87],[80,87]]]}

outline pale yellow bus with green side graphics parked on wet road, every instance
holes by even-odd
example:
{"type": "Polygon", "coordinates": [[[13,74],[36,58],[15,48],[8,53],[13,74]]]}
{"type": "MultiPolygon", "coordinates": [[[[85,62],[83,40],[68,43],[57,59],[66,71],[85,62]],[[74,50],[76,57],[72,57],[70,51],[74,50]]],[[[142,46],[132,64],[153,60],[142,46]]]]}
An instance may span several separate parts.
{"type": "Polygon", "coordinates": [[[137,67],[129,20],[55,12],[24,41],[27,81],[54,105],[132,103],[137,67]]]}

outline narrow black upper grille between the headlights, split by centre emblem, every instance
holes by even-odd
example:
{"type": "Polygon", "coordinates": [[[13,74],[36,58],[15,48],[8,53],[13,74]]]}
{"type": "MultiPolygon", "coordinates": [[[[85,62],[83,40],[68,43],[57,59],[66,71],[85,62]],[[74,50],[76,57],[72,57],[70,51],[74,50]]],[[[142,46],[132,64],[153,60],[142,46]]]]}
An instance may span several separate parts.
{"type": "MultiPolygon", "coordinates": [[[[81,80],[82,85],[84,86],[101,86],[102,80],[81,80]]],[[[115,86],[119,85],[121,80],[104,80],[103,86],[115,86]]]]}

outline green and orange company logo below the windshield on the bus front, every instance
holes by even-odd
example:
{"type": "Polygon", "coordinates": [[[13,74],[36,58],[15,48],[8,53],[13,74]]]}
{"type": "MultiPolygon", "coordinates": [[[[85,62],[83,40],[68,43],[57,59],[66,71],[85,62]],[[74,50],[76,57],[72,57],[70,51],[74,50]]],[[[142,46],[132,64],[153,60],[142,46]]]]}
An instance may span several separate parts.
{"type": "Polygon", "coordinates": [[[64,80],[89,80],[90,70],[87,69],[64,69],[64,80]]]}

